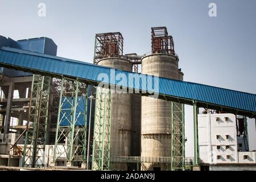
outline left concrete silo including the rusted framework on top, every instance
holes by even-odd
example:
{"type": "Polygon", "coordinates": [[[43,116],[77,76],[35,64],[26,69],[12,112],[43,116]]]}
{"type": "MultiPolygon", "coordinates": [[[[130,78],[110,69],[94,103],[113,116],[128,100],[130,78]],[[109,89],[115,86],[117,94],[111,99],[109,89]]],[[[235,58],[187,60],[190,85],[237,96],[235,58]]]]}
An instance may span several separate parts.
{"type": "MultiPolygon", "coordinates": [[[[94,64],[121,69],[123,71],[133,71],[131,61],[123,58],[123,38],[120,32],[96,34],[94,64]]],[[[109,157],[111,162],[109,169],[127,170],[127,163],[119,162],[120,159],[118,157],[131,155],[132,94],[117,93],[116,91],[117,90],[112,90],[111,93],[109,144],[109,157]]],[[[96,109],[96,113],[97,112],[96,109]]]]}

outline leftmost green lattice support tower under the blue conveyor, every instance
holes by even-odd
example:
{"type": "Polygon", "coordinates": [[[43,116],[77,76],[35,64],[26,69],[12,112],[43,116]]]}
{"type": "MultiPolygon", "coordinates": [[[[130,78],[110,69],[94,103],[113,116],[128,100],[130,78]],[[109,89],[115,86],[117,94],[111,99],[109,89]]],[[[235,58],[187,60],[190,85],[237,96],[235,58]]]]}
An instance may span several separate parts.
{"type": "Polygon", "coordinates": [[[29,116],[23,150],[23,167],[44,167],[51,78],[33,75],[29,116]]]}

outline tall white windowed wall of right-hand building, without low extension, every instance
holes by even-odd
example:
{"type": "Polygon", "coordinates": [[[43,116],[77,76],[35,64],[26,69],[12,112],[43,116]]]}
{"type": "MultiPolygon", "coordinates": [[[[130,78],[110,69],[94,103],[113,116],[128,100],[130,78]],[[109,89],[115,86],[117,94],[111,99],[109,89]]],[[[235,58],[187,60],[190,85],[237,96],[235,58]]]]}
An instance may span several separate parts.
{"type": "Polygon", "coordinates": [[[199,156],[205,163],[237,163],[236,117],[233,114],[199,114],[199,156]],[[228,121],[225,121],[228,117],[228,121]],[[216,121],[218,118],[218,121],[216,121]],[[219,139],[217,139],[219,135],[219,139]],[[229,135],[229,139],[226,139],[229,135]],[[217,149],[220,146],[220,149],[217,149]],[[226,149],[226,146],[229,146],[226,149]],[[227,155],[229,159],[227,159],[227,155]],[[220,159],[218,159],[220,156],[220,159]]]}

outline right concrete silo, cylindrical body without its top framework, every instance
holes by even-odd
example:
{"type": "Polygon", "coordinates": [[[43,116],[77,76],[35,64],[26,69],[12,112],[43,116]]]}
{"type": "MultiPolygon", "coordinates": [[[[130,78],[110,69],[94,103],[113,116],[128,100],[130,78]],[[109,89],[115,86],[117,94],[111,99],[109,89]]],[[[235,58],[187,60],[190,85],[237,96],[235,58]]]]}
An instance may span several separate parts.
{"type": "MultiPolygon", "coordinates": [[[[142,73],[179,79],[178,59],[167,53],[154,53],[142,58],[142,73]]],[[[171,156],[171,102],[142,97],[142,158],[171,156]]],[[[166,170],[170,164],[142,163],[142,170],[166,170]]]]}

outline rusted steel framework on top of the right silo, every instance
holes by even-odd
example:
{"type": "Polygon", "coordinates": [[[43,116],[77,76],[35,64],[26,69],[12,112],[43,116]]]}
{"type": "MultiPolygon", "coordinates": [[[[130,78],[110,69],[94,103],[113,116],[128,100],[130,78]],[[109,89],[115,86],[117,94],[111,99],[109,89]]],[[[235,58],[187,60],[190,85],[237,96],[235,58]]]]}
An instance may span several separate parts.
{"type": "Polygon", "coordinates": [[[174,40],[168,36],[166,27],[151,28],[151,51],[152,53],[170,53],[175,55],[174,40]]]}

